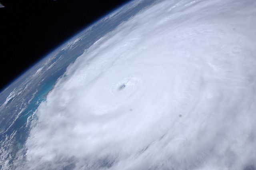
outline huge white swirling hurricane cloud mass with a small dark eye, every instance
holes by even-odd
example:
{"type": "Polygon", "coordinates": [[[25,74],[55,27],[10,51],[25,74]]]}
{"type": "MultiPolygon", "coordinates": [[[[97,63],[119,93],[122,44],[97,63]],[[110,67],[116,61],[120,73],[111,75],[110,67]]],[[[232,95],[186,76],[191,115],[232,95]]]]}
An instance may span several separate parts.
{"type": "Polygon", "coordinates": [[[164,0],[123,22],[58,80],[16,164],[255,169],[255,9],[255,0],[164,0]]]}

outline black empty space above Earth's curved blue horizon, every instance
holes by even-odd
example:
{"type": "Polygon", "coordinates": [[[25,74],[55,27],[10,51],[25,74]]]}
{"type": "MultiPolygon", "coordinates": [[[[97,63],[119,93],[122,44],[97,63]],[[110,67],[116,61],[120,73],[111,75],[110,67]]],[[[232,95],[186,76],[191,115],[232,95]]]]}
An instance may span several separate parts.
{"type": "Polygon", "coordinates": [[[0,89],[128,0],[0,0],[0,89]]]}

